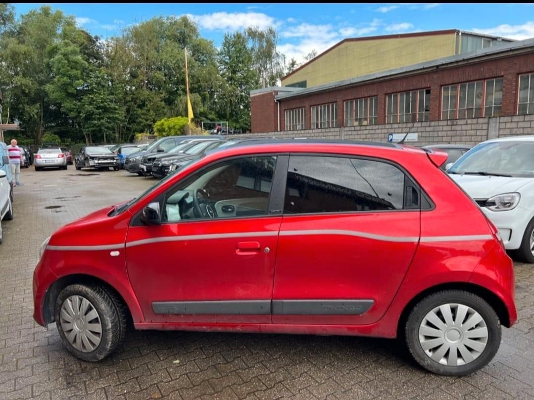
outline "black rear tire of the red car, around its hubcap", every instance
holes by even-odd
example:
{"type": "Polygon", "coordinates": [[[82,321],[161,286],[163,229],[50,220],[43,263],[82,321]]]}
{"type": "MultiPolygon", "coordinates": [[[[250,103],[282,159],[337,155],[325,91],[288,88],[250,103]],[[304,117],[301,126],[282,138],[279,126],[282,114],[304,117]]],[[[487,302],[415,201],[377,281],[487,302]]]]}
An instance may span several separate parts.
{"type": "Polygon", "coordinates": [[[500,346],[501,326],[493,308],[478,295],[462,290],[445,290],[430,294],[417,303],[406,321],[405,340],[415,361],[428,371],[442,375],[468,375],[480,370],[495,356],[500,346]],[[423,318],[434,308],[447,303],[460,304],[472,308],[482,316],[488,330],[486,346],[482,353],[478,354],[473,361],[464,365],[449,366],[434,361],[423,350],[419,341],[419,327],[423,318]]]}

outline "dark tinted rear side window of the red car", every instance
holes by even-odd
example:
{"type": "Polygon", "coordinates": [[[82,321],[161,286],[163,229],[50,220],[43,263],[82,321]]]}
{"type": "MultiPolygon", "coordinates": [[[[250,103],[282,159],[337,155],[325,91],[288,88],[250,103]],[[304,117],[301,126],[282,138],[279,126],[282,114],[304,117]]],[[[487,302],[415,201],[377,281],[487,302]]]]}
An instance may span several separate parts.
{"type": "MultiPolygon", "coordinates": [[[[402,210],[405,174],[389,163],[360,158],[290,156],[284,213],[402,210]]],[[[415,190],[410,188],[411,190],[415,190]]],[[[416,190],[415,195],[418,195],[416,190]]],[[[412,200],[412,191],[406,190],[412,200]]]]}

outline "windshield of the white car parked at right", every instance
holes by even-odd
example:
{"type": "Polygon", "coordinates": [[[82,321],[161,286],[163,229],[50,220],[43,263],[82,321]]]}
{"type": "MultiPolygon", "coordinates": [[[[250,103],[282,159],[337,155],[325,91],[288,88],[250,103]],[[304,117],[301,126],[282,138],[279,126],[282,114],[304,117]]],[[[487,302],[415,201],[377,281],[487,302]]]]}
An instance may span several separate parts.
{"type": "Polygon", "coordinates": [[[454,163],[447,172],[534,177],[534,141],[480,143],[454,163]]]}

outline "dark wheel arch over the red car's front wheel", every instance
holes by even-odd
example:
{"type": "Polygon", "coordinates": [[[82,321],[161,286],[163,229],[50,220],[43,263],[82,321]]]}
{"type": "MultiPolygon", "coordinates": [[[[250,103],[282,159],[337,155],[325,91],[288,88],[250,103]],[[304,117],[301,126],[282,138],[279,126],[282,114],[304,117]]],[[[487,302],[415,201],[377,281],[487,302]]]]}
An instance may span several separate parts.
{"type": "Polygon", "coordinates": [[[105,287],[107,290],[112,291],[117,295],[121,301],[121,307],[124,308],[127,316],[128,324],[133,322],[144,322],[143,311],[141,310],[137,298],[129,298],[116,287],[105,281],[100,277],[87,274],[72,274],[62,276],[54,281],[48,290],[46,290],[45,297],[43,299],[42,313],[45,325],[54,322],[54,305],[59,293],[65,289],[68,285],[73,284],[96,284],[105,287]]]}

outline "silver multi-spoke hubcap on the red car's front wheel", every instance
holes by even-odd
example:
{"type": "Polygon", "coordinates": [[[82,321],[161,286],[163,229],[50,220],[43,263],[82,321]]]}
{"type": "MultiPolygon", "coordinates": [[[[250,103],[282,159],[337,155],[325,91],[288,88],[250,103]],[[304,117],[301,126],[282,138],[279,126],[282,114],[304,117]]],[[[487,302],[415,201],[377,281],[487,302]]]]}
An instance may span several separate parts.
{"type": "Polygon", "coordinates": [[[61,305],[61,329],[69,343],[78,351],[90,353],[102,340],[102,324],[97,310],[89,300],[74,295],[61,305]]]}

